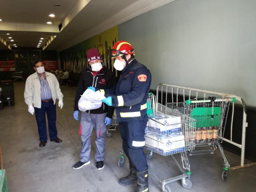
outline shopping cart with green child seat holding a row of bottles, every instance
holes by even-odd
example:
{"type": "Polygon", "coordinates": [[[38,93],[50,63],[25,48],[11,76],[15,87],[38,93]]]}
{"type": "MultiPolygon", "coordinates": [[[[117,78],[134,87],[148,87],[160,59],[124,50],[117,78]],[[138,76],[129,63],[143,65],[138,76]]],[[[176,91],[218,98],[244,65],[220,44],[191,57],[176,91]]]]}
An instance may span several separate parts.
{"type": "Polygon", "coordinates": [[[228,108],[230,102],[235,102],[236,98],[208,97],[208,100],[186,100],[186,102],[166,103],[168,108],[177,110],[197,120],[196,130],[191,132],[195,138],[196,149],[189,152],[189,155],[213,154],[218,148],[224,159],[224,166],[221,178],[226,180],[230,165],[224,155],[221,143],[223,141],[228,108]],[[201,147],[200,150],[199,147],[201,147]],[[205,149],[208,147],[208,149],[205,149]],[[210,149],[209,149],[210,147],[210,149]]]}

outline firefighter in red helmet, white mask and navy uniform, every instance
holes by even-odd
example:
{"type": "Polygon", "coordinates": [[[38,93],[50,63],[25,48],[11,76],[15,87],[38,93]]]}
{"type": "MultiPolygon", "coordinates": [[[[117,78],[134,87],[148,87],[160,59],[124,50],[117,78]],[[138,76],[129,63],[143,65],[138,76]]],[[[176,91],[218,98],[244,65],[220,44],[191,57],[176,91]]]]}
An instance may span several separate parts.
{"type": "Polygon", "coordinates": [[[110,58],[115,58],[114,68],[122,70],[122,74],[114,88],[100,92],[106,97],[102,102],[116,107],[123,150],[130,163],[130,174],[120,178],[119,184],[137,183],[135,192],[149,192],[148,164],[143,148],[148,121],[146,103],[151,84],[150,70],[137,62],[134,58],[134,49],[126,41],[114,44],[110,50],[110,58]]]}

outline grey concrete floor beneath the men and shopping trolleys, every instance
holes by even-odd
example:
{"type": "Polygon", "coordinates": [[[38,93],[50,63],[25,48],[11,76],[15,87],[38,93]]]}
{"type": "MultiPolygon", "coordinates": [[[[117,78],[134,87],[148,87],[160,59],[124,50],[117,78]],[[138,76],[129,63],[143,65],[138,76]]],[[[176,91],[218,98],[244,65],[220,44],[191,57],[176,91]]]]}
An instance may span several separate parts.
{"type": "MultiPolygon", "coordinates": [[[[15,105],[0,110],[0,143],[7,172],[9,192],[134,192],[135,184],[120,186],[118,179],[128,174],[128,162],[118,167],[119,151],[122,148],[120,134],[113,131],[112,138],[106,139],[105,168],[96,170],[92,138],[91,164],[80,170],[72,166],[79,160],[79,122],[73,119],[75,87],[61,86],[64,94],[64,107],[57,108],[57,144],[50,142],[39,148],[35,116],[27,111],[24,102],[24,82],[15,82],[15,105]]],[[[231,166],[240,164],[240,157],[225,151],[231,166]]],[[[179,154],[176,155],[180,160],[179,154]]],[[[190,190],[181,186],[180,181],[168,186],[172,192],[254,192],[256,188],[256,166],[232,170],[228,179],[221,180],[222,156],[217,150],[214,155],[191,156],[192,171],[190,190]]],[[[246,161],[246,163],[250,163],[246,161]]],[[[149,166],[160,179],[180,174],[170,156],[154,154],[148,160],[149,166]]],[[[150,192],[161,192],[161,184],[149,174],[150,192]]]]}

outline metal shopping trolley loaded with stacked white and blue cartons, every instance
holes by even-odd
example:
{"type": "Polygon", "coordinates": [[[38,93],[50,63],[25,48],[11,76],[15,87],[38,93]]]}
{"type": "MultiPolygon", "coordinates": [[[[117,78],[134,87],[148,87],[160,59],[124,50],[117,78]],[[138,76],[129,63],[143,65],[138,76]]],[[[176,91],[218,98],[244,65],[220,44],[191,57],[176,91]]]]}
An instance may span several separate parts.
{"type": "Polygon", "coordinates": [[[150,108],[152,108],[152,113],[148,114],[145,148],[163,156],[171,155],[182,174],[160,180],[150,167],[149,170],[156,180],[162,183],[162,192],[171,192],[170,187],[166,184],[177,180],[181,180],[184,188],[190,189],[192,187],[191,172],[186,152],[194,150],[195,147],[195,135],[193,133],[196,128],[196,120],[158,102],[153,102],[150,108]],[[180,153],[182,166],[174,157],[174,154],[177,153],[180,153]]]}

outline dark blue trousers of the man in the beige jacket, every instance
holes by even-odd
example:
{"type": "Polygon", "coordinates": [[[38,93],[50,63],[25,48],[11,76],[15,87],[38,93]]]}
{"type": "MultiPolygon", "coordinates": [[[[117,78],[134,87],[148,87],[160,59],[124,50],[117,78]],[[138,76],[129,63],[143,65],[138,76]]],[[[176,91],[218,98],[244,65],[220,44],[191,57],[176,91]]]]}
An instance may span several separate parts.
{"type": "Polygon", "coordinates": [[[48,119],[48,129],[50,139],[57,137],[56,128],[56,105],[53,104],[53,100],[49,102],[41,102],[41,108],[35,107],[36,122],[38,126],[38,134],[40,141],[47,141],[47,130],[46,130],[46,118],[48,119]]]}

